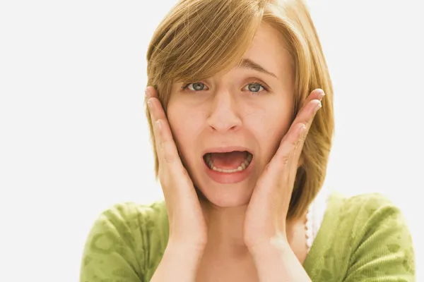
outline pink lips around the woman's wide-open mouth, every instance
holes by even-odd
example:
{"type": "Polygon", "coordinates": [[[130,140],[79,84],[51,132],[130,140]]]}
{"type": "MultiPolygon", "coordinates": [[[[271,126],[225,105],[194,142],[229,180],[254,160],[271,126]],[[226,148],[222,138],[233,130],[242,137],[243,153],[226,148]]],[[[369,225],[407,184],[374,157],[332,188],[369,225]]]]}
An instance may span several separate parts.
{"type": "MultiPolygon", "coordinates": [[[[208,149],[207,151],[204,152],[204,154],[207,153],[225,153],[225,152],[232,152],[232,151],[247,151],[249,153],[252,154],[252,152],[245,148],[245,147],[216,147],[216,148],[212,148],[212,149],[208,149]]],[[[252,168],[254,166],[254,158],[252,159],[252,161],[250,162],[249,166],[247,166],[247,168],[243,171],[237,171],[237,172],[233,172],[233,173],[223,173],[223,172],[219,172],[219,171],[214,171],[213,169],[209,168],[208,165],[205,163],[203,156],[201,157],[201,162],[204,164],[204,169],[206,171],[206,174],[209,176],[209,178],[211,178],[213,181],[215,181],[216,183],[220,183],[220,184],[235,184],[235,183],[240,183],[243,180],[245,180],[250,173],[252,172],[252,168]]],[[[253,154],[252,154],[253,155],[253,154]]]]}

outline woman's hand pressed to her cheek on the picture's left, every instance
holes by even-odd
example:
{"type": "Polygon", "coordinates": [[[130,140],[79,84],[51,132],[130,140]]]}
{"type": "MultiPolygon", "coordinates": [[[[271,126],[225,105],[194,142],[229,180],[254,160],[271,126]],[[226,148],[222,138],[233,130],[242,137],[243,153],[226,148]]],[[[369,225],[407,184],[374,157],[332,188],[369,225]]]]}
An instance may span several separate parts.
{"type": "Polygon", "coordinates": [[[154,87],[147,87],[146,99],[151,114],[155,147],[159,159],[159,180],[167,207],[169,243],[202,249],[207,227],[192,179],[182,165],[170,125],[154,87]]]}

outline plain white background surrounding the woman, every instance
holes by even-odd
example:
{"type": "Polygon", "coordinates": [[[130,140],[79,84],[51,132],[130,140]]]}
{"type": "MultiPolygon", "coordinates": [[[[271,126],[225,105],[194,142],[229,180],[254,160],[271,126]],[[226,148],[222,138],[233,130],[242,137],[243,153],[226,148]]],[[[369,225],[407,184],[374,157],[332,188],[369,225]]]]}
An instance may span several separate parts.
{"type": "MultiPolygon", "coordinates": [[[[0,281],[78,281],[93,221],[162,197],[146,49],[175,0],[0,3],[0,281]]],[[[423,2],[310,2],[334,81],[327,183],[401,207],[424,273],[423,2]]]]}

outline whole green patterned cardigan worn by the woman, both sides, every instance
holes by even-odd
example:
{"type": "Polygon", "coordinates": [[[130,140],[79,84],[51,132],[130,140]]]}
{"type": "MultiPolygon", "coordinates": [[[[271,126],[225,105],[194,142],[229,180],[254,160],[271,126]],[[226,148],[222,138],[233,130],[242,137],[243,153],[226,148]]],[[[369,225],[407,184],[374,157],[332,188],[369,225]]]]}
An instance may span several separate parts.
{"type": "MultiPolygon", "coordinates": [[[[103,212],[88,235],[81,282],[148,282],[167,245],[164,202],[122,203],[103,212]]],[[[333,192],[303,264],[312,281],[415,281],[411,233],[379,194],[333,192]]]]}

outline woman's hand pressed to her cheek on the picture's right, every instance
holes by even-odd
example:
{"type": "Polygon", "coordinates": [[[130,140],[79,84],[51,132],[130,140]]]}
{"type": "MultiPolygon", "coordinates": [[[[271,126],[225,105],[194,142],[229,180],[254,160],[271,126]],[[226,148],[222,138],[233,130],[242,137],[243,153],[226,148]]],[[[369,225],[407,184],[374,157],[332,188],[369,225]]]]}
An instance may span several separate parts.
{"type": "Polygon", "coordinates": [[[285,219],[293,192],[303,142],[317,110],[322,90],[314,90],[281,140],[276,154],[257,181],[245,217],[245,243],[249,250],[269,246],[273,240],[287,243],[285,219]]]}

